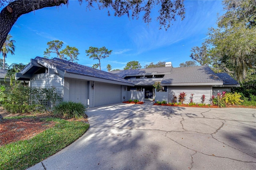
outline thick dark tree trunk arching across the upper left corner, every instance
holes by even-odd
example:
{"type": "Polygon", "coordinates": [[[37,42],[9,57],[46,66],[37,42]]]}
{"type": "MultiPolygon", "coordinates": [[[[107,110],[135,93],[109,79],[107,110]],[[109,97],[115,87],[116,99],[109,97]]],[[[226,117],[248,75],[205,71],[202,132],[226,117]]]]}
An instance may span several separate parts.
{"type": "Polygon", "coordinates": [[[0,48],[17,19],[29,12],[45,7],[60,6],[68,0],[16,0],[2,9],[0,14],[0,48]]]}

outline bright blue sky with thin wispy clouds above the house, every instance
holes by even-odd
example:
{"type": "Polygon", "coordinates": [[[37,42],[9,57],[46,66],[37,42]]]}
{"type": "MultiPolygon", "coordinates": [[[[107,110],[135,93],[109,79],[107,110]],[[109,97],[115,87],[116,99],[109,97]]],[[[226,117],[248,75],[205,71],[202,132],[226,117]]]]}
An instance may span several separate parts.
{"type": "Polygon", "coordinates": [[[113,50],[101,60],[104,71],[107,64],[112,69],[123,69],[129,61],[139,61],[142,68],[158,61],[171,61],[173,67],[179,67],[180,63],[191,60],[191,48],[201,46],[208,28],[216,27],[217,13],[224,13],[219,0],[186,0],[185,8],[184,20],[176,17],[167,31],[159,30],[156,9],[149,25],[142,17],[132,20],[128,16],[108,16],[106,10],[86,11],[86,4],[80,6],[76,0],[70,0],[68,7],[36,10],[18,18],[12,27],[15,55],[7,54],[6,62],[29,63],[31,58],[44,56],[47,42],[60,40],[64,42],[62,49],[66,45],[78,48],[78,63],[88,67],[98,63],[86,56],[85,50],[90,46],[113,50]]]}

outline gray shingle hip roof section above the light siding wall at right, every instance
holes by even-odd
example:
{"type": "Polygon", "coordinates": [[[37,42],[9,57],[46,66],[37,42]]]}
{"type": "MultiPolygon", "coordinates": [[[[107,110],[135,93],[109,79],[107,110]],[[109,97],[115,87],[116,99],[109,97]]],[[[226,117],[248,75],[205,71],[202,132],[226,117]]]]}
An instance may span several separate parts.
{"type": "Polygon", "coordinates": [[[162,83],[222,83],[222,80],[207,66],[172,68],[164,75],[162,83]]]}

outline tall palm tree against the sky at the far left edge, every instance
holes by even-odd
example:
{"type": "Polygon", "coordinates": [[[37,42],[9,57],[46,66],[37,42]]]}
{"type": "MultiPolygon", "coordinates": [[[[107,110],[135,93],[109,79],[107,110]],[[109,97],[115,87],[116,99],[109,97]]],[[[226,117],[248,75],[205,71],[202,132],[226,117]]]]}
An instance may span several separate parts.
{"type": "Polygon", "coordinates": [[[12,38],[11,34],[8,34],[4,42],[4,45],[1,48],[1,53],[3,55],[3,69],[4,69],[5,58],[7,57],[7,53],[11,53],[12,55],[14,55],[15,46],[13,43],[15,43],[15,41],[11,40],[11,38],[12,38]]]}

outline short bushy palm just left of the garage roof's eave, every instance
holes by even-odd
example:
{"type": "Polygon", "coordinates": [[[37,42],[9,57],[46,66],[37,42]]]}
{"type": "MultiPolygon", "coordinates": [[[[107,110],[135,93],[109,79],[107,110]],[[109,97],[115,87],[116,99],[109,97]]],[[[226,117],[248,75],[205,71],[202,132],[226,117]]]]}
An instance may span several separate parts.
{"type": "Polygon", "coordinates": [[[6,78],[10,78],[10,85],[13,85],[13,83],[16,85],[16,80],[15,80],[15,74],[20,72],[26,65],[19,63],[12,63],[6,72],[6,75],[4,77],[4,82],[6,78]]]}

